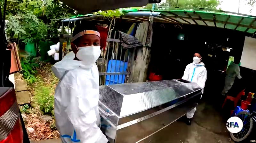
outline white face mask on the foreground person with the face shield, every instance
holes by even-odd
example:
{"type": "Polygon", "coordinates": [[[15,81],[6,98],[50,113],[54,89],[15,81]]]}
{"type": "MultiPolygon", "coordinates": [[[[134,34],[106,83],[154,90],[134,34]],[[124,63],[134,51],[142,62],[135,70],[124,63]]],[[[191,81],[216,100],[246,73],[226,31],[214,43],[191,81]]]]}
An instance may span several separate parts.
{"type": "Polygon", "coordinates": [[[100,57],[100,46],[78,47],[76,58],[83,61],[85,65],[92,65],[100,57]]]}

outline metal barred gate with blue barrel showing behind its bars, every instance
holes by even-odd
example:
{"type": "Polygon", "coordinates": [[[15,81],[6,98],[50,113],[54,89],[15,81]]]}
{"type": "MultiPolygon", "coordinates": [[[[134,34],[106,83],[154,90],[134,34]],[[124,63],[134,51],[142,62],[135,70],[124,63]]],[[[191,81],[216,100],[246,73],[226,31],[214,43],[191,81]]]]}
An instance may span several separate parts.
{"type": "Polygon", "coordinates": [[[125,83],[127,75],[130,75],[128,59],[129,51],[121,45],[120,33],[110,30],[106,48],[96,61],[100,86],[125,83]]]}

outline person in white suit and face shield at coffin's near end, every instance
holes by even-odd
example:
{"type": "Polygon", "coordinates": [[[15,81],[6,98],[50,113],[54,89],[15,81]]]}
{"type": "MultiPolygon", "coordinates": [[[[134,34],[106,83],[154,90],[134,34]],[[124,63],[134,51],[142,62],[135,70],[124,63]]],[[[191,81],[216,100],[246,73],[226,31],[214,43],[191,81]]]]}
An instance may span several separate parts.
{"type": "Polygon", "coordinates": [[[100,130],[99,58],[100,33],[95,25],[77,26],[72,51],[52,71],[60,79],[54,95],[56,127],[63,143],[107,143],[100,130]]]}

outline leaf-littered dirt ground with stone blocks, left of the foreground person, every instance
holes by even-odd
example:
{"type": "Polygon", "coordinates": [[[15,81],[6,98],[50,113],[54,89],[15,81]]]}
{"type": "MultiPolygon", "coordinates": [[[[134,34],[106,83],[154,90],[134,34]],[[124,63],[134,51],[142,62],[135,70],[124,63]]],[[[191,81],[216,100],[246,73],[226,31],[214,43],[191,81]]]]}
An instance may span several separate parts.
{"type": "MultiPolygon", "coordinates": [[[[35,99],[35,89],[39,84],[51,87],[51,96],[53,96],[55,87],[58,83],[58,79],[52,73],[51,63],[39,61],[39,58],[36,59],[36,62],[39,64],[39,67],[36,68],[37,81],[32,85],[26,83],[20,73],[16,74],[15,83],[20,83],[20,81],[25,82],[24,84],[23,82],[20,84],[16,84],[16,89],[21,88],[20,92],[16,92],[17,100],[20,105],[28,105],[28,109],[26,110],[26,112],[22,112],[22,118],[24,120],[29,139],[33,141],[56,139],[60,137],[60,133],[55,128],[54,116],[51,114],[51,116],[48,114],[43,114],[43,112],[39,109],[39,104],[36,102],[35,99]],[[25,97],[28,97],[28,99],[25,97]]],[[[22,106],[20,106],[20,108],[22,108],[22,106]]]]}

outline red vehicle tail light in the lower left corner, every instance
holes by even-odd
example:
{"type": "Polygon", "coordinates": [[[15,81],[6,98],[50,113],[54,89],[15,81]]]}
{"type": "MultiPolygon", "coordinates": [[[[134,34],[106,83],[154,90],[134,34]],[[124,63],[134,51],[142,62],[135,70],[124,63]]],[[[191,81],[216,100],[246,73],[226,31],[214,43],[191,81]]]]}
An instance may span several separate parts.
{"type": "Polygon", "coordinates": [[[10,87],[0,87],[0,143],[23,143],[19,106],[10,87]]]}

